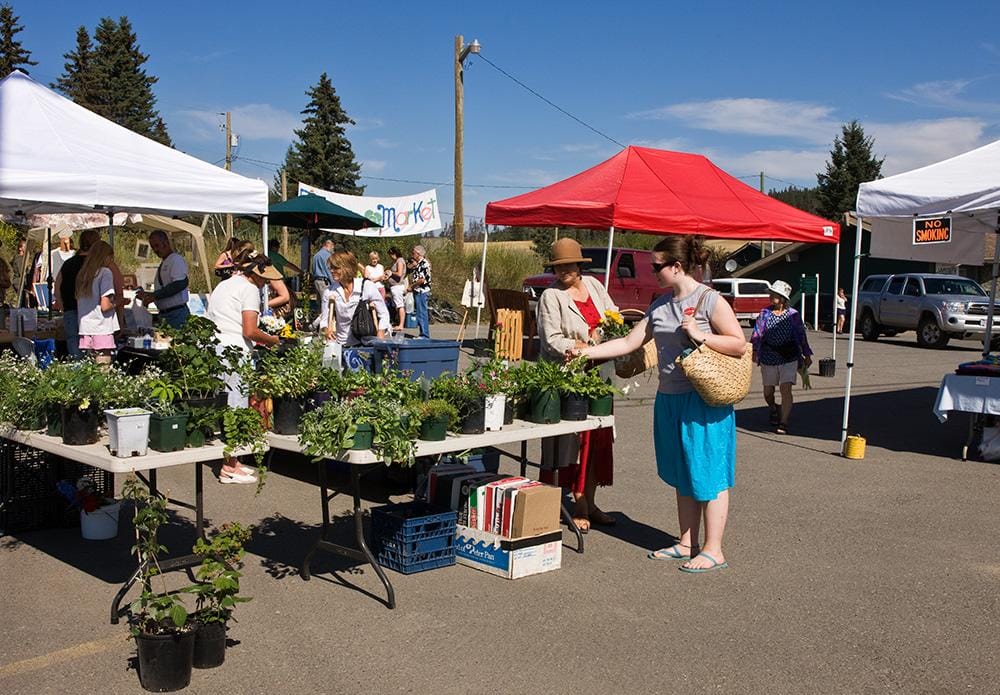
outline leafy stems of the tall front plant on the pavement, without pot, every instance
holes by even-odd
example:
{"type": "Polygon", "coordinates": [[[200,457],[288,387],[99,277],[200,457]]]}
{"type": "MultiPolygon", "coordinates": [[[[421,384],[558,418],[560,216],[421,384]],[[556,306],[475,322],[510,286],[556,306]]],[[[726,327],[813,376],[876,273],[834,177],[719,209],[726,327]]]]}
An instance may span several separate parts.
{"type": "Polygon", "coordinates": [[[187,607],[179,595],[190,591],[190,587],[168,591],[160,569],[159,557],[167,548],[160,544],[157,532],[167,521],[167,500],[151,494],[134,475],[126,478],[122,485],[122,497],[134,505],[136,542],[132,552],[139,561],[143,585],[139,598],[129,607],[132,634],[162,635],[190,630],[187,607]],[[157,577],[162,582],[161,591],[153,591],[157,577]]]}

